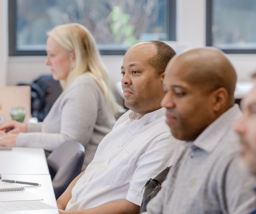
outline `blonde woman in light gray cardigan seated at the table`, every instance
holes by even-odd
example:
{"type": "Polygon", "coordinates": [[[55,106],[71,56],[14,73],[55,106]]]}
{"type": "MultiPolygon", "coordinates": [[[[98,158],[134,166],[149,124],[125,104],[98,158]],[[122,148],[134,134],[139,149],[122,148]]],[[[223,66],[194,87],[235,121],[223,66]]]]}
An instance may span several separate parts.
{"type": "Polygon", "coordinates": [[[93,159],[102,138],[111,131],[115,113],[122,108],[108,87],[106,69],[96,43],[81,24],[54,27],[48,33],[45,64],[63,92],[42,123],[11,122],[0,126],[13,128],[0,132],[0,146],[27,146],[52,151],[66,140],[85,147],[82,169],[93,159]]]}

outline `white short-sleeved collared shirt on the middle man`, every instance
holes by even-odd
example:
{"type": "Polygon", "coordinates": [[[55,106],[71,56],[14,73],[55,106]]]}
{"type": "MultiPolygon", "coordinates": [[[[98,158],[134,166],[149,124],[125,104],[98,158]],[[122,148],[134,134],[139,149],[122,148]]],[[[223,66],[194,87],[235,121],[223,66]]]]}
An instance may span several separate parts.
{"type": "Polygon", "coordinates": [[[146,181],[172,165],[179,141],[165,123],[165,109],[134,120],[132,113],[124,113],[101,141],[73,187],[66,211],[123,199],[141,205],[146,181]]]}

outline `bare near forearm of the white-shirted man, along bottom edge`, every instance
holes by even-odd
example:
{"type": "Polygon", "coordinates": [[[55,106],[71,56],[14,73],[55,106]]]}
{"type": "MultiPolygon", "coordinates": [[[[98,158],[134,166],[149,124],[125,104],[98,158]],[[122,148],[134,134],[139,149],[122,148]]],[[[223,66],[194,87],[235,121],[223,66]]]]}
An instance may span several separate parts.
{"type": "Polygon", "coordinates": [[[66,212],[67,214],[138,214],[139,206],[128,200],[108,202],[106,204],[81,211],[66,212]]]}

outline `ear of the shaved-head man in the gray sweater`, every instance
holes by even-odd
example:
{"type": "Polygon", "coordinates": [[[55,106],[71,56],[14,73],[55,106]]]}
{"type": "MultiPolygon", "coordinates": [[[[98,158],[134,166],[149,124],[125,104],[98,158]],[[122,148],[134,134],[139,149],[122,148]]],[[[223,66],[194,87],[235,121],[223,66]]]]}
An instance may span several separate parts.
{"type": "Polygon", "coordinates": [[[215,112],[222,110],[227,105],[229,94],[225,88],[218,88],[211,95],[213,98],[213,110],[215,112]]]}

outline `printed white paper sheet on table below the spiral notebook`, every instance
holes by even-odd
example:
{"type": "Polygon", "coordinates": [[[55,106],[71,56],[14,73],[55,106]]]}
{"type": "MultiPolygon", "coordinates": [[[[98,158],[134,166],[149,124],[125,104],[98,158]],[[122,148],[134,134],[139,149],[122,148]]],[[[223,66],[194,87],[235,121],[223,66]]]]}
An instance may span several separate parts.
{"type": "Polygon", "coordinates": [[[44,209],[57,209],[42,201],[10,201],[0,202],[0,212],[4,211],[24,211],[24,210],[44,210],[44,209]]]}

